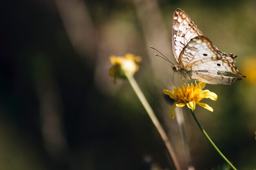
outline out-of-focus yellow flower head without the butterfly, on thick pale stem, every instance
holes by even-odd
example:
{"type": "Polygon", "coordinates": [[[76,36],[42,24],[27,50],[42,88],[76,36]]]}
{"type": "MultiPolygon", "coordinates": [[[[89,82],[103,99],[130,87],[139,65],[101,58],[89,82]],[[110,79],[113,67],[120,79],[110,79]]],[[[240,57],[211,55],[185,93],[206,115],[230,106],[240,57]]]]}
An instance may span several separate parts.
{"type": "Polygon", "coordinates": [[[126,75],[134,75],[136,71],[139,70],[139,65],[137,63],[141,62],[140,56],[135,56],[131,53],[127,53],[124,57],[121,56],[110,56],[110,62],[113,66],[109,70],[110,76],[125,78],[126,75]]]}

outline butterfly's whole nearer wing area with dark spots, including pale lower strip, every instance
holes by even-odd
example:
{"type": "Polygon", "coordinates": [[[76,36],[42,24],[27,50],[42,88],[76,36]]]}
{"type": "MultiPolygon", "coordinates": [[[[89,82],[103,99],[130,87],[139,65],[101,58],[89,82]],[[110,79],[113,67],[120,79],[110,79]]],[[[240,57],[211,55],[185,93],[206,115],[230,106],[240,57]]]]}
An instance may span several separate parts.
{"type": "Polygon", "coordinates": [[[223,53],[204,36],[195,37],[185,46],[179,57],[184,70],[192,71],[191,79],[209,84],[234,84],[240,78],[224,76],[233,73],[245,77],[234,65],[234,54],[223,53]]]}

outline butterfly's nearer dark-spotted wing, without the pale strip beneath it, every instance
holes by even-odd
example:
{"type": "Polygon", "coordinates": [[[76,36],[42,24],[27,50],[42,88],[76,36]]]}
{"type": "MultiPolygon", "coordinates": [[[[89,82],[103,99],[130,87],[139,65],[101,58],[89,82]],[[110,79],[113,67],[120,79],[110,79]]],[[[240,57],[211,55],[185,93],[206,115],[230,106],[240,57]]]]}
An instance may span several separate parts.
{"type": "Polygon", "coordinates": [[[233,54],[225,54],[216,49],[211,41],[200,36],[193,38],[183,49],[179,62],[185,70],[208,71],[207,73],[233,73],[243,76],[238,72],[231,60],[233,54]]]}

